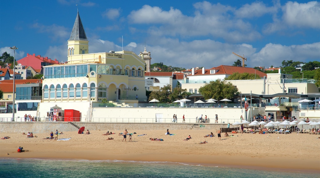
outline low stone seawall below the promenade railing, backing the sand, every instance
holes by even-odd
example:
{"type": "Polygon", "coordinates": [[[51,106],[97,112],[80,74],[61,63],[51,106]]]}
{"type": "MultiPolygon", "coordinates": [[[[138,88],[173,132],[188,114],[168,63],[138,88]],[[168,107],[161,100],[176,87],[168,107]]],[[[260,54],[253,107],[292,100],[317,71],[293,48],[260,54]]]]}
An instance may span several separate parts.
{"type": "MultiPolygon", "coordinates": [[[[87,130],[218,130],[220,127],[226,128],[225,123],[91,123],[74,122],[78,127],[85,127],[87,130]]],[[[78,131],[78,129],[68,122],[1,122],[0,133],[45,133],[58,130],[78,131]]]]}

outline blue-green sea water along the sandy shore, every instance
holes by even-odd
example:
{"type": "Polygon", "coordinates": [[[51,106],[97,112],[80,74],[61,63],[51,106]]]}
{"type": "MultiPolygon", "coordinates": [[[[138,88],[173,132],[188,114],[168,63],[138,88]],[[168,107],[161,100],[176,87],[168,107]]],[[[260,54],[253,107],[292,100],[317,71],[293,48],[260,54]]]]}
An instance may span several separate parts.
{"type": "Polygon", "coordinates": [[[275,172],[172,162],[119,160],[0,159],[0,177],[319,177],[319,174],[275,172]]]}

